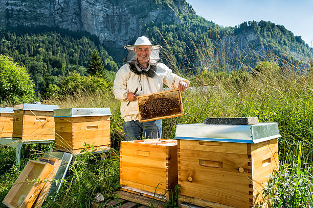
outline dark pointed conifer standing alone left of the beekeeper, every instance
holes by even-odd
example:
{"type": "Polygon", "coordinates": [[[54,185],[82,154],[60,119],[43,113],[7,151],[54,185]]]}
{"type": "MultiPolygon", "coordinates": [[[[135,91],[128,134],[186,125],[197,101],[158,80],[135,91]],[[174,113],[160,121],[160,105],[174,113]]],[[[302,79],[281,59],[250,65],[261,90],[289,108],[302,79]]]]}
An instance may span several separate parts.
{"type": "Polygon", "coordinates": [[[97,49],[93,50],[93,53],[91,55],[91,60],[88,63],[87,66],[87,73],[90,75],[96,75],[96,76],[103,76],[104,73],[104,65],[101,61],[101,58],[99,56],[99,53],[97,49]]]}

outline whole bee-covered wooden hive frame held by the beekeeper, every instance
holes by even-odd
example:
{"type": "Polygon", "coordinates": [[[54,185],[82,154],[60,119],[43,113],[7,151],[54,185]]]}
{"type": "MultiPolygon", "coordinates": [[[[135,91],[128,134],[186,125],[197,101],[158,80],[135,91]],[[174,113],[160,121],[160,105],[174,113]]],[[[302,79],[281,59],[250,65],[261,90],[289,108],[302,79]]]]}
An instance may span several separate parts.
{"type": "Polygon", "coordinates": [[[178,89],[137,97],[139,122],[184,115],[182,94],[178,89]]]}

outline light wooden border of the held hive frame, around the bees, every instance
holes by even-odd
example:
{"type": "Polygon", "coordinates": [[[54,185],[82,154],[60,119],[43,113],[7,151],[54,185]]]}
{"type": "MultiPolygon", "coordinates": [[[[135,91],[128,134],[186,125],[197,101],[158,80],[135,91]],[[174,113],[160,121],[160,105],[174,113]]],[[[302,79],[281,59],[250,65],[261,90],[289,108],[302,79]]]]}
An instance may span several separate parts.
{"type": "Polygon", "coordinates": [[[154,121],[154,120],[159,120],[159,119],[165,119],[165,118],[172,118],[172,117],[177,117],[177,116],[183,116],[184,114],[184,108],[183,108],[183,101],[182,101],[182,93],[179,89],[173,89],[173,90],[167,90],[167,91],[162,91],[162,92],[156,92],[156,93],[151,93],[151,94],[146,94],[146,95],[140,95],[137,97],[137,103],[138,103],[138,120],[139,122],[146,122],[146,121],[154,121]],[[174,93],[172,93],[174,92],[174,93]],[[180,113],[173,114],[173,115],[168,115],[168,116],[160,116],[160,117],[154,117],[154,118],[149,118],[149,119],[143,119],[141,117],[140,113],[140,103],[144,102],[146,99],[149,99],[150,96],[165,96],[165,97],[173,97],[176,96],[175,98],[180,101],[179,105],[181,108],[180,113]]]}

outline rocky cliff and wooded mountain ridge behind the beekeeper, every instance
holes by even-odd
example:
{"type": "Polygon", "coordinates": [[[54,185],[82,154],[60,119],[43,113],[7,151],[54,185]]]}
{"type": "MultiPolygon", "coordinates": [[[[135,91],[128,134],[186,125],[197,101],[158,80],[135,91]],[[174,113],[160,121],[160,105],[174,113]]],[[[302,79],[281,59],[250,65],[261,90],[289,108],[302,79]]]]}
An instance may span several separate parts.
{"type": "Polygon", "coordinates": [[[254,67],[269,55],[299,65],[312,56],[301,37],[282,25],[248,21],[223,28],[196,15],[185,0],[0,0],[0,27],[20,25],[86,31],[118,63],[126,55],[123,46],[146,35],[172,51],[165,62],[192,71],[254,67]]]}

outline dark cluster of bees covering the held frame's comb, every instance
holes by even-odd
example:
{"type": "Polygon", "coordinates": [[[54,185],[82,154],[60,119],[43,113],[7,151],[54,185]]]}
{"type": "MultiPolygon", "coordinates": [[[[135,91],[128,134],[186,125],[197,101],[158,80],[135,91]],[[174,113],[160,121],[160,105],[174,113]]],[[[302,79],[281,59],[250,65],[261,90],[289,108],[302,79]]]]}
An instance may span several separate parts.
{"type": "Polygon", "coordinates": [[[151,95],[139,103],[139,111],[142,120],[174,115],[181,112],[180,100],[151,95]]]}

